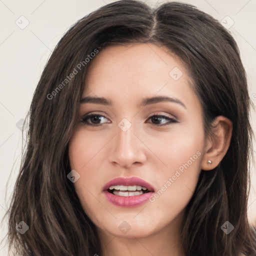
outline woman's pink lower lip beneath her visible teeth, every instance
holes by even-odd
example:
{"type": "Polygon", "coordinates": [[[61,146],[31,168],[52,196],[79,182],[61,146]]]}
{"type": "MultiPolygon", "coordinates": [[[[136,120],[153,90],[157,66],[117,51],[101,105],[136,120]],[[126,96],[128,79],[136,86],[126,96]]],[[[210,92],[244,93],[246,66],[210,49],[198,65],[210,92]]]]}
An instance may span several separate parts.
{"type": "Polygon", "coordinates": [[[104,194],[106,199],[114,205],[121,207],[134,207],[145,203],[148,200],[148,198],[154,194],[154,192],[147,192],[144,194],[132,196],[120,196],[112,194],[105,190],[104,194]]]}

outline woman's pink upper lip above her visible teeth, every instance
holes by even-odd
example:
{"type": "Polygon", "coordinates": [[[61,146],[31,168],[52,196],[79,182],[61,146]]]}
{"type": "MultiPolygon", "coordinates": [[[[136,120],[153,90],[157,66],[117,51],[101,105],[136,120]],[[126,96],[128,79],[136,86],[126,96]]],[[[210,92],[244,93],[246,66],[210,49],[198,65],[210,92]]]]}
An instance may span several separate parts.
{"type": "Polygon", "coordinates": [[[149,191],[155,191],[154,187],[146,182],[145,180],[138,178],[138,177],[117,177],[111,179],[103,186],[103,191],[107,190],[112,185],[124,185],[124,186],[132,186],[132,185],[139,185],[144,186],[149,191]]]}

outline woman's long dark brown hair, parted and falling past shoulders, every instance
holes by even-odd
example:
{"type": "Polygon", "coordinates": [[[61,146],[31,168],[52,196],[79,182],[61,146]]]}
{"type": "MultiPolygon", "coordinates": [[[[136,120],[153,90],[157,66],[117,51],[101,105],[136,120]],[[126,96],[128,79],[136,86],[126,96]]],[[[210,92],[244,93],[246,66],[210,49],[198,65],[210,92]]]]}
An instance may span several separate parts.
{"type": "Polygon", "coordinates": [[[256,255],[256,232],[247,219],[251,103],[236,42],[194,6],[167,2],[152,9],[135,0],[106,4],[81,18],[52,52],[26,116],[27,143],[6,213],[9,249],[18,255],[102,255],[95,225],[66,177],[68,141],[92,52],[132,42],[166,46],[186,63],[203,108],[205,132],[217,115],[233,124],[226,155],[215,169],[201,170],[186,206],[181,232],[185,255],[237,256],[238,250],[256,255]],[[23,234],[15,228],[20,221],[29,226],[23,234]],[[225,221],[234,226],[229,234],[221,230],[225,221]]]}

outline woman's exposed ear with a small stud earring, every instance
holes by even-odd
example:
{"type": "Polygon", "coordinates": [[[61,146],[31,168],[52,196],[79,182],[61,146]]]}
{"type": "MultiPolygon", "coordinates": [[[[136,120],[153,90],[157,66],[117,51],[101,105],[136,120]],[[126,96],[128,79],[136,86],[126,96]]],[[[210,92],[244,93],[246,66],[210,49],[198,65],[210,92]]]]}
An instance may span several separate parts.
{"type": "Polygon", "coordinates": [[[205,153],[201,163],[203,170],[214,169],[226,154],[232,135],[232,122],[225,116],[219,115],[212,122],[212,131],[205,140],[205,153]]]}

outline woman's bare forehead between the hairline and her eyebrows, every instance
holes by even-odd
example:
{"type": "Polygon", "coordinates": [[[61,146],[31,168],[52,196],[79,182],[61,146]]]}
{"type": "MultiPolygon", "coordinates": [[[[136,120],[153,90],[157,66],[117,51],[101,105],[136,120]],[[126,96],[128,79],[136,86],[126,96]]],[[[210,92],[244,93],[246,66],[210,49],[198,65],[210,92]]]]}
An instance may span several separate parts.
{"type": "Polygon", "coordinates": [[[82,96],[114,97],[112,101],[123,102],[161,94],[196,101],[191,84],[182,61],[166,47],[152,43],[111,45],[90,62],[82,96]]]}

